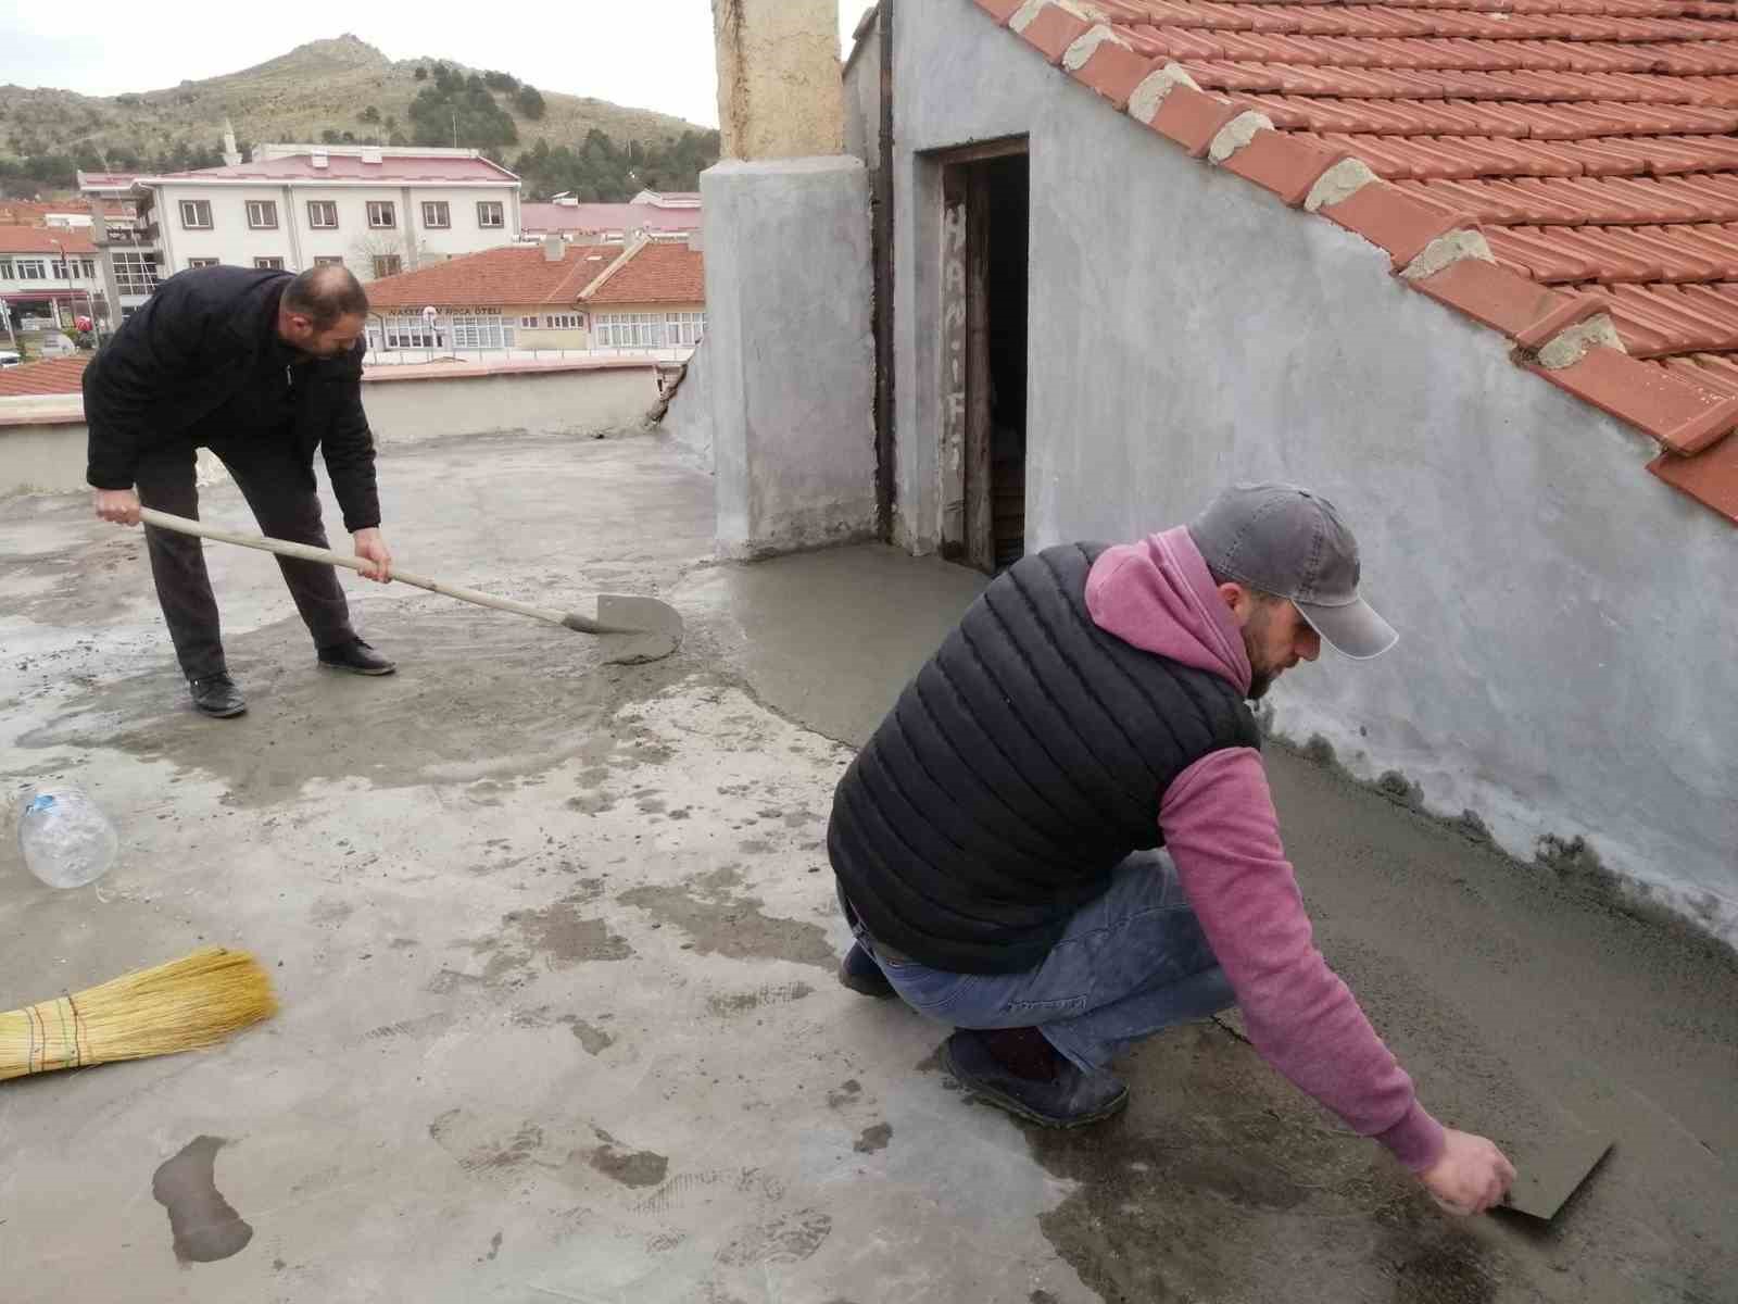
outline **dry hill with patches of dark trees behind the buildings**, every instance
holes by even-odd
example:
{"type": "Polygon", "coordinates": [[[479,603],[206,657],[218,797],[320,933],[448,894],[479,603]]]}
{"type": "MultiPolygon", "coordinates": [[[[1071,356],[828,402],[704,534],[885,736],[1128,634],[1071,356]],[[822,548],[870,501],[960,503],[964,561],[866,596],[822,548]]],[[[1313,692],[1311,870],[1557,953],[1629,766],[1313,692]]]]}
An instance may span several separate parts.
{"type": "Polygon", "coordinates": [[[297,45],[240,73],[182,82],[167,90],[80,96],[0,87],[0,183],[10,179],[14,191],[28,190],[19,183],[31,181],[66,184],[73,165],[87,170],[104,163],[116,170],[209,165],[217,162],[212,151],[221,148],[224,120],[235,123],[245,151],[252,143],[344,139],[346,132],[356,141],[450,146],[452,116],[457,116],[461,146],[481,148],[507,167],[539,141],[549,150],[579,150],[593,130],[624,150],[633,143],[641,158],[648,150],[680,141],[685,132],[706,132],[664,113],[544,87],[527,96],[507,73],[473,70],[452,59],[395,63],[367,42],[344,35],[297,45]],[[452,96],[429,99],[438,68],[448,70],[441,82],[443,90],[450,83],[452,96]],[[481,82],[471,82],[473,73],[487,78],[487,90],[481,82]],[[412,115],[419,94],[424,103],[412,115]],[[447,113],[448,103],[455,115],[447,113]],[[441,139],[431,139],[436,122],[447,123],[441,139]],[[511,134],[518,137],[513,143],[507,141],[511,134]]]}

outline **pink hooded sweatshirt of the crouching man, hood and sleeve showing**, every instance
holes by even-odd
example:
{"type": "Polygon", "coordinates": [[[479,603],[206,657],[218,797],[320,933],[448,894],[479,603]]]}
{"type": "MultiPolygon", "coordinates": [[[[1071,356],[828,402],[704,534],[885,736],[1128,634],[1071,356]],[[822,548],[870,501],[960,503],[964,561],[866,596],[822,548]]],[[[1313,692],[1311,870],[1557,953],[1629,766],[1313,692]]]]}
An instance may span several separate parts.
{"type": "MultiPolygon", "coordinates": [[[[1248,694],[1243,635],[1187,529],[1105,551],[1086,609],[1100,629],[1248,694]]],[[[1191,765],[1159,828],[1262,1057],[1413,1172],[1436,1163],[1443,1125],[1316,949],[1260,753],[1225,748],[1191,765]]]]}

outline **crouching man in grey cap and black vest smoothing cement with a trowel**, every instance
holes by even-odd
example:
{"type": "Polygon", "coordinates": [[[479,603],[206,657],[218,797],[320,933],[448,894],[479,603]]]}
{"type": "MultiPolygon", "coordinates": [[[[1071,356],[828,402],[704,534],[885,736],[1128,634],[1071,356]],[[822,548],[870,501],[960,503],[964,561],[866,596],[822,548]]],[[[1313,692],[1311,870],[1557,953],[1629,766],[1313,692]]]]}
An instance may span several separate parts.
{"type": "Polygon", "coordinates": [[[956,1026],[954,1076],[1046,1127],[1119,1111],[1133,1041],[1241,1005],[1269,1064],[1439,1203],[1495,1205],[1509,1160],[1425,1111],[1316,949],[1244,704],[1323,638],[1396,643],[1357,581],[1333,504],[1291,485],[1006,570],[839,781],[845,986],[956,1026]]]}

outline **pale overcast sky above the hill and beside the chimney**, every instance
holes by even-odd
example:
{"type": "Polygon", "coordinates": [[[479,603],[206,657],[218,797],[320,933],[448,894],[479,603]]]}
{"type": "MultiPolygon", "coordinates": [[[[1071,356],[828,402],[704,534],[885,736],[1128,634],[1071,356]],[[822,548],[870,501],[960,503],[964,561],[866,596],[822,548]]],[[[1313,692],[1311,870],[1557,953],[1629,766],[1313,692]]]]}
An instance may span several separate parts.
{"type": "MultiPolygon", "coordinates": [[[[839,37],[869,0],[841,0],[839,37]]],[[[87,96],[160,90],[264,63],[309,40],[355,33],[388,59],[445,57],[499,68],[542,90],[596,96],[718,125],[711,0],[570,0],[565,5],[403,5],[297,0],[0,0],[0,83],[87,96]]]]}

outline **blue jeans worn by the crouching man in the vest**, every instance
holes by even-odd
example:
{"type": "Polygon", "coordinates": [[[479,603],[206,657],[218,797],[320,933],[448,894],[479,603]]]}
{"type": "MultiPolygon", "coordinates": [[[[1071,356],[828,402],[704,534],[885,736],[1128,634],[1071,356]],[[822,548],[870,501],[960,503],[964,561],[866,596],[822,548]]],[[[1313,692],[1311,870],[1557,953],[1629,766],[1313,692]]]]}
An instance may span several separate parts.
{"type": "Polygon", "coordinates": [[[1038,1026],[1088,1073],[1142,1038],[1236,1005],[1225,970],[1163,852],[1135,852],[1081,908],[1050,955],[1024,974],[949,974],[876,955],[911,1008],[954,1028],[1038,1026]]]}

